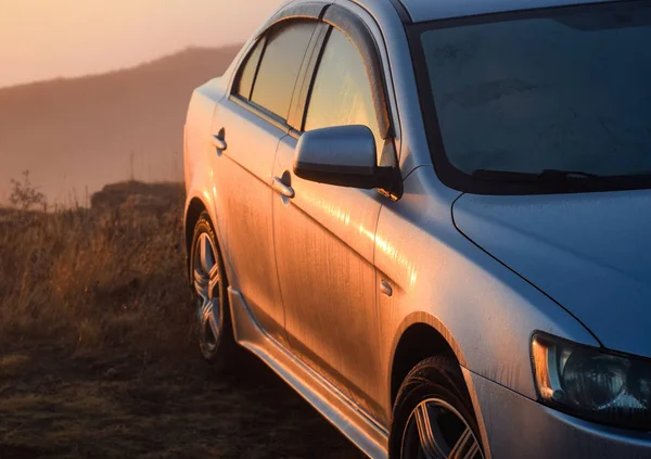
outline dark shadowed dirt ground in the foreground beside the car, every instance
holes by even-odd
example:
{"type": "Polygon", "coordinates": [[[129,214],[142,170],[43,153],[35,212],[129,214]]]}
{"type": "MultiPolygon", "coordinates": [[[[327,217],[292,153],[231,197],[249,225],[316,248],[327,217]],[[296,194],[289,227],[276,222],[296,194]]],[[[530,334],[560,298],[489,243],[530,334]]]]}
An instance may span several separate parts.
{"type": "Polygon", "coordinates": [[[359,458],[255,357],[212,373],[187,359],[71,352],[0,354],[0,458],[359,458]]]}

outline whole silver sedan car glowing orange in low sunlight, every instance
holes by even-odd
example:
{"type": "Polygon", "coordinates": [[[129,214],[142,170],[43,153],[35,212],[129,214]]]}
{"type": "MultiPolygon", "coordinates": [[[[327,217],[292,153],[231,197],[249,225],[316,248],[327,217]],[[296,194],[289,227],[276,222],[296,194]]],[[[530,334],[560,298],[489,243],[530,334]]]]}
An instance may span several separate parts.
{"type": "Polygon", "coordinates": [[[290,1],[184,171],[219,370],[372,458],[651,458],[650,1],[290,1]]]}

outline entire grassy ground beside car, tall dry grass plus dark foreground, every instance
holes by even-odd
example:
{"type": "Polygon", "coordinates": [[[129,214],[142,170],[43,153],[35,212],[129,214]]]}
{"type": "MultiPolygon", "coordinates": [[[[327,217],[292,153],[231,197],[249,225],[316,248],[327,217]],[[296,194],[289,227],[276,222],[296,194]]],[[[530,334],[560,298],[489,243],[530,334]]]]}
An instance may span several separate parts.
{"type": "Polygon", "coordinates": [[[194,348],[182,189],[0,213],[0,458],[359,458],[253,357],[194,348]]]}

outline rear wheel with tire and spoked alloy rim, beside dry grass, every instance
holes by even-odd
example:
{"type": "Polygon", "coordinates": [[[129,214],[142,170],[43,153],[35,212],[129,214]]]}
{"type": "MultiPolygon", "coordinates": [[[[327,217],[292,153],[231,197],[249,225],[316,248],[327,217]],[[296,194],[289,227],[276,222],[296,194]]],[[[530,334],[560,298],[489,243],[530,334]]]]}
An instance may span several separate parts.
{"type": "Polygon", "coordinates": [[[239,350],[233,337],[228,280],[210,218],[201,214],[190,246],[190,282],[196,316],[199,346],[217,372],[228,369],[239,350]]]}

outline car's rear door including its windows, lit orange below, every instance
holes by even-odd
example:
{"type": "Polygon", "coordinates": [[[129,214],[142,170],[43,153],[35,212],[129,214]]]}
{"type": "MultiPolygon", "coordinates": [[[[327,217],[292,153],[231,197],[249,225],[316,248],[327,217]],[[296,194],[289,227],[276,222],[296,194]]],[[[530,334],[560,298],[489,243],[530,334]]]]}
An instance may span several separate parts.
{"type": "Polygon", "coordinates": [[[272,166],[317,22],[284,21],[252,48],[213,117],[215,190],[231,285],[260,326],[284,342],[273,254],[272,166]]]}

